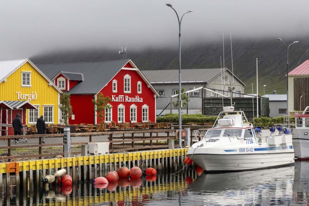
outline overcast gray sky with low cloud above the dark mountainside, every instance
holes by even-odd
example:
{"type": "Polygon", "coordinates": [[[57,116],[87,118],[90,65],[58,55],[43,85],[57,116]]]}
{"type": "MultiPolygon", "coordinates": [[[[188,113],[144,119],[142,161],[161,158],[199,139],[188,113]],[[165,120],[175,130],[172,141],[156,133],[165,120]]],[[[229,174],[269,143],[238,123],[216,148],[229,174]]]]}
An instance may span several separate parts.
{"type": "Polygon", "coordinates": [[[57,50],[176,47],[233,38],[309,34],[308,0],[29,0],[0,1],[0,59],[28,58],[57,50]]]}

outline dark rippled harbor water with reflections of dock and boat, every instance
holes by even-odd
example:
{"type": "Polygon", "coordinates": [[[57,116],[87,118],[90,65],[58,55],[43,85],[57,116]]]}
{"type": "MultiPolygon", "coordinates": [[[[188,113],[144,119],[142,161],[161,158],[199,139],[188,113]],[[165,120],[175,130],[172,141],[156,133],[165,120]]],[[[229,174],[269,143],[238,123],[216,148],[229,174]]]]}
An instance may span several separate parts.
{"type": "Polygon", "coordinates": [[[2,188],[2,205],[308,205],[309,162],[276,169],[119,179],[106,188],[91,183],[51,186],[22,194],[2,188]],[[18,202],[16,202],[18,200],[18,202]]]}

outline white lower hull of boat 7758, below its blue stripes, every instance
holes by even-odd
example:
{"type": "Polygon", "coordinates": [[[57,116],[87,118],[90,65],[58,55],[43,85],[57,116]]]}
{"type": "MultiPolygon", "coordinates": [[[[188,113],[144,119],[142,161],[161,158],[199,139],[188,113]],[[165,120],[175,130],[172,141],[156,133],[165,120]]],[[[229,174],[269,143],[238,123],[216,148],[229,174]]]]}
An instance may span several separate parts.
{"type": "Polygon", "coordinates": [[[193,154],[191,159],[207,172],[258,170],[294,164],[294,152],[264,154],[193,154]]]}

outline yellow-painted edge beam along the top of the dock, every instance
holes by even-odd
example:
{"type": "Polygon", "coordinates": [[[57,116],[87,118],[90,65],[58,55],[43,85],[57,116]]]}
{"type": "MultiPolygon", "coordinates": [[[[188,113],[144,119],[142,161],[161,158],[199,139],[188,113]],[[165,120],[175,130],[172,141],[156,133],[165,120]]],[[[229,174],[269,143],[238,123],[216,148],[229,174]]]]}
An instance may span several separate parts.
{"type": "MultiPolygon", "coordinates": [[[[89,165],[95,163],[119,163],[122,161],[141,160],[141,159],[156,159],[165,157],[179,157],[181,154],[186,155],[188,148],[181,149],[163,149],[163,150],[150,150],[150,151],[138,151],[128,153],[114,153],[114,154],[102,154],[102,155],[91,155],[71,158],[57,158],[57,159],[43,159],[43,160],[29,160],[19,162],[19,172],[30,171],[30,170],[42,170],[42,169],[55,169],[65,168],[67,166],[74,165],[89,165]],[[134,158],[133,158],[134,157],[134,158]]],[[[0,173],[6,173],[6,163],[0,163],[0,173]]]]}

